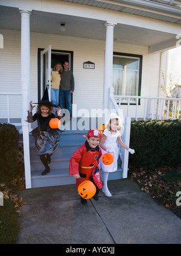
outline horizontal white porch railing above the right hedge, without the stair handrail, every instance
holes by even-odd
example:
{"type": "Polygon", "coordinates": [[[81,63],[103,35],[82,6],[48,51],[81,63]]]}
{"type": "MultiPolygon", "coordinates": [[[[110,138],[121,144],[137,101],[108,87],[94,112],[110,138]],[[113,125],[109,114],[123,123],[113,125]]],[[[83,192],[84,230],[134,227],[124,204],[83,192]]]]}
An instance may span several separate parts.
{"type": "Polygon", "coordinates": [[[122,108],[123,115],[132,120],[181,119],[180,101],[181,98],[114,95],[110,88],[110,105],[117,112],[122,108]]]}

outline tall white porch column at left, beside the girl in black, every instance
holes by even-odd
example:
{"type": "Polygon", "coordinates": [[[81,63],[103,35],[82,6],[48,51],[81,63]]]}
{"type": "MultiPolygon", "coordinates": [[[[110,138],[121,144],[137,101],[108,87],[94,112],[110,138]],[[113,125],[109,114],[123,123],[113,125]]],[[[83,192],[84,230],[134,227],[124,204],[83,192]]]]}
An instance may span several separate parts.
{"type": "Polygon", "coordinates": [[[29,109],[30,88],[30,11],[21,13],[21,92],[22,92],[22,131],[24,142],[24,165],[26,188],[31,188],[30,145],[27,110],[29,109]]]}

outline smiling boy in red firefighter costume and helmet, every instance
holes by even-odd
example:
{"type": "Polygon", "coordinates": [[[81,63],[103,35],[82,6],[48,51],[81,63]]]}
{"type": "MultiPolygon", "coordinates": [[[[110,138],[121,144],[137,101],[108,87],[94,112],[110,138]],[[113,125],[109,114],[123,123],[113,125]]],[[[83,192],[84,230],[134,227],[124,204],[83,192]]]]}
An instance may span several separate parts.
{"type": "MultiPolygon", "coordinates": [[[[98,200],[98,192],[103,187],[99,169],[99,160],[102,155],[101,148],[98,145],[101,139],[101,133],[97,129],[89,130],[86,142],[78,148],[70,159],[69,174],[76,179],[75,186],[78,186],[84,180],[90,180],[97,188],[94,199],[98,200]]],[[[86,205],[87,200],[81,197],[81,203],[86,205]]]]}

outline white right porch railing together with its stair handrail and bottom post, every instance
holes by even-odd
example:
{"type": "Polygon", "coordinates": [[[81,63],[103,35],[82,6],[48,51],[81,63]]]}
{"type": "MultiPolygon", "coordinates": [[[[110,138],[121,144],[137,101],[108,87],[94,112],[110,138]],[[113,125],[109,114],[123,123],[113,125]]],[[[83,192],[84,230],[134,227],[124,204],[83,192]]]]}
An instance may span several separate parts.
{"type": "MultiPolygon", "coordinates": [[[[124,133],[122,141],[129,146],[131,120],[163,120],[180,119],[180,98],[168,97],[144,97],[144,96],[120,96],[113,94],[110,87],[109,110],[115,110],[117,114],[124,116],[124,133]]],[[[122,178],[127,177],[129,153],[119,146],[119,157],[121,158],[122,178]]]]}

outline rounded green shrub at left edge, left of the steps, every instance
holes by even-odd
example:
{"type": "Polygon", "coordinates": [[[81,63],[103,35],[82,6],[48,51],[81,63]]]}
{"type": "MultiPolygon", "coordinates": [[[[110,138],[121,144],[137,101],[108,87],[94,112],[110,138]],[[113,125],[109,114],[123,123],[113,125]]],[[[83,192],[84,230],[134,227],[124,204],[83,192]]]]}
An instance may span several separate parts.
{"type": "Polygon", "coordinates": [[[0,123],[0,181],[8,182],[16,175],[19,133],[14,125],[0,123]]]}

